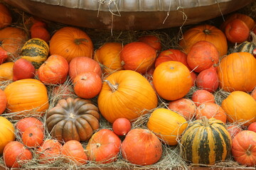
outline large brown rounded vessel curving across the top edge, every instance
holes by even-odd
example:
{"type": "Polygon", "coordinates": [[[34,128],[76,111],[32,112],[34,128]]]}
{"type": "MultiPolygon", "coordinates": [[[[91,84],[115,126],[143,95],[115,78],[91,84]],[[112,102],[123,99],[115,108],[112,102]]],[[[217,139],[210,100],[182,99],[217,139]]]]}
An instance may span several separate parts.
{"type": "Polygon", "coordinates": [[[154,30],[207,21],[253,0],[4,0],[34,16],[104,30],[154,30]]]}

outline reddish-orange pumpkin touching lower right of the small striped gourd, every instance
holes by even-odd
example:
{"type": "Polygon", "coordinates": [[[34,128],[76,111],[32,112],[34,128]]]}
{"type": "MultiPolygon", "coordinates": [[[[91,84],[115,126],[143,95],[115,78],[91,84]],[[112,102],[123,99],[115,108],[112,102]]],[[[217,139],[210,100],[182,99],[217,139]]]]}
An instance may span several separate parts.
{"type": "Polygon", "coordinates": [[[45,84],[63,84],[68,76],[68,62],[60,55],[50,55],[38,69],[38,78],[45,84]]]}

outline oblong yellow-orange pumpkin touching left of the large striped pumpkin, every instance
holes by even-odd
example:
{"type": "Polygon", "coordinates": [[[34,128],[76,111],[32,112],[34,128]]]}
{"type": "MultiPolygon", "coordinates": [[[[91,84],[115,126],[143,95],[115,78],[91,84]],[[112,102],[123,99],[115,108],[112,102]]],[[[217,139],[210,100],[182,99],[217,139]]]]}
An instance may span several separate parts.
{"type": "Polygon", "coordinates": [[[167,145],[177,145],[181,134],[186,130],[186,119],[166,108],[157,108],[151,113],[147,128],[160,137],[167,145]]]}

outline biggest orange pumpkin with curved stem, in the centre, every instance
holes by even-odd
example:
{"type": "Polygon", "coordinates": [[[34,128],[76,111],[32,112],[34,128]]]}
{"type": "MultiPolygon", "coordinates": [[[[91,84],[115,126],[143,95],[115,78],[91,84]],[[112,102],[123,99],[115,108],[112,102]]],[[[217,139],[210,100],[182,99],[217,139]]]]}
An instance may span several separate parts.
{"type": "Polygon", "coordinates": [[[156,108],[157,96],[149,81],[138,72],[121,70],[110,74],[98,96],[100,113],[110,122],[138,118],[156,108]]]}

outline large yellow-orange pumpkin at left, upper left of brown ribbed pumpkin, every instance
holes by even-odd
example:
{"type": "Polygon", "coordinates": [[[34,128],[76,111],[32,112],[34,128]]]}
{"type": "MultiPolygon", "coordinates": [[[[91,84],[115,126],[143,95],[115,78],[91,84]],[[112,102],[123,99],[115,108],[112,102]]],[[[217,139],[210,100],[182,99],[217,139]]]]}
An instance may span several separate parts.
{"type": "Polygon", "coordinates": [[[17,118],[31,111],[32,114],[42,114],[49,107],[46,86],[37,79],[14,81],[6,86],[4,93],[7,98],[6,112],[20,112],[14,115],[17,118]]]}

